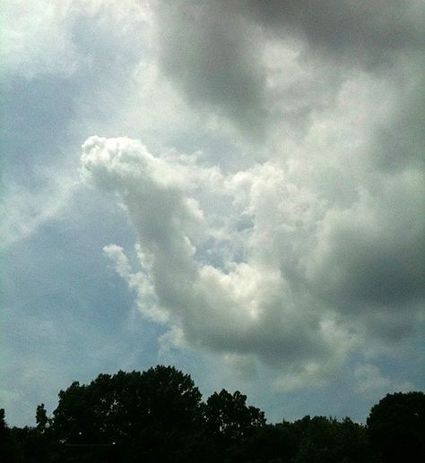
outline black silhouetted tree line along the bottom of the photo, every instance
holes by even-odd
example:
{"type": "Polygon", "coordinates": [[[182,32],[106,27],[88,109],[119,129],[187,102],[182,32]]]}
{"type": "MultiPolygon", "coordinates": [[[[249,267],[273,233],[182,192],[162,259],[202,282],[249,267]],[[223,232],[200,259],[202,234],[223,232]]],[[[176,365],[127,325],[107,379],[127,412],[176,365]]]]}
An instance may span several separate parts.
{"type": "Polygon", "coordinates": [[[425,461],[425,394],[388,394],[366,424],[304,416],[267,424],[238,390],[206,401],[173,366],[100,374],[59,392],[52,416],[10,427],[0,408],[4,463],[415,463],[425,461]]]}

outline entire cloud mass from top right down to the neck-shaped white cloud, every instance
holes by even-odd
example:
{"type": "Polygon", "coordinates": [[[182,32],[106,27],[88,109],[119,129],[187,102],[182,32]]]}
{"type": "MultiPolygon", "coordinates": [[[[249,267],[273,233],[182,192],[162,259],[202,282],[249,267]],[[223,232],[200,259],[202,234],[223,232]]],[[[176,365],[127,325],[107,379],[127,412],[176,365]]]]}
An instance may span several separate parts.
{"type": "Polygon", "coordinates": [[[421,77],[399,66],[421,67],[405,58],[421,55],[421,8],[382,8],[154,4],[162,75],[212,130],[228,121],[251,153],[261,144],[233,171],[129,139],[83,145],[84,176],[128,211],[142,270],[124,274],[124,250],[106,253],[143,312],[168,324],[164,339],[273,365],[282,390],[323,383],[353,354],[408,350],[424,298],[425,179],[408,108],[421,77]],[[390,128],[412,140],[399,153],[390,128]]]}

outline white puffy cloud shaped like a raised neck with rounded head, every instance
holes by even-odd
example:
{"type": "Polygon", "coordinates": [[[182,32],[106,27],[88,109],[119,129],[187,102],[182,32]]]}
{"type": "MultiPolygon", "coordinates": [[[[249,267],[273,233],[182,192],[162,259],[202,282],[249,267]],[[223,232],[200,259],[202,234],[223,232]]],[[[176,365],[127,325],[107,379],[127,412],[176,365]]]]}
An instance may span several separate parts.
{"type": "MultiPolygon", "coordinates": [[[[223,353],[255,355],[268,364],[311,362],[339,355],[345,348],[343,339],[327,328],[332,317],[317,312],[308,295],[294,293],[280,270],[279,259],[262,255],[276,231],[276,223],[267,224],[268,214],[262,210],[262,200],[268,201],[267,193],[275,187],[267,187],[272,174],[268,165],[246,173],[255,179],[248,199],[252,204],[247,210],[233,205],[230,216],[222,220],[228,229],[217,233],[213,217],[205,213],[208,205],[204,210],[200,202],[200,193],[210,189],[208,201],[212,196],[215,201],[220,197],[229,201],[226,196],[231,198],[232,188],[238,189],[243,174],[223,181],[216,168],[197,167],[185,157],[153,157],[142,144],[127,139],[91,137],[82,150],[82,175],[117,193],[126,207],[143,254],[149,256],[148,268],[141,264],[149,275],[146,278],[152,278],[159,306],[170,323],[182,330],[186,343],[223,353]],[[264,178],[258,169],[266,171],[261,173],[264,178]],[[254,225],[238,231],[235,224],[245,212],[254,225]],[[245,255],[233,260],[228,255],[225,265],[214,267],[208,262],[212,255],[208,251],[213,252],[223,237],[241,241],[245,255]],[[256,251],[260,239],[264,241],[256,251]]],[[[284,201],[282,198],[279,204],[284,201]]],[[[273,217],[273,211],[268,212],[273,217]]],[[[122,250],[108,246],[106,251],[143,300],[146,289],[141,274],[128,269],[122,250]]],[[[143,303],[139,300],[139,304],[143,303]]]]}

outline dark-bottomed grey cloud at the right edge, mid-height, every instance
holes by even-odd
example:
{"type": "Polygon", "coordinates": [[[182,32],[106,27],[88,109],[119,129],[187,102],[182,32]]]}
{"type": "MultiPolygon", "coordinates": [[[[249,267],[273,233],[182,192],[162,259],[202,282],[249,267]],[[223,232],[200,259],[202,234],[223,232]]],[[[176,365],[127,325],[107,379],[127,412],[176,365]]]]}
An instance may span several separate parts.
{"type": "MultiPolygon", "coordinates": [[[[318,231],[312,273],[325,276],[339,299],[385,305],[387,309],[423,298],[425,221],[418,215],[424,197],[420,172],[376,179],[373,191],[359,191],[351,208],[328,210],[318,231]]],[[[313,277],[315,278],[315,277],[313,277]]],[[[318,277],[319,284],[325,281],[318,277]]]]}

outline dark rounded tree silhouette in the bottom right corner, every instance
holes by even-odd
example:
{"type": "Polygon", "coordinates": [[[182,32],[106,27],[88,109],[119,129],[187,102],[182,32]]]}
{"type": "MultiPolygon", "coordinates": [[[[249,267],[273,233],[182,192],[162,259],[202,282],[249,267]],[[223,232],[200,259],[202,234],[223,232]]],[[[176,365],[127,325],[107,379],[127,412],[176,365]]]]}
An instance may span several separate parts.
{"type": "Polygon", "coordinates": [[[396,392],[374,405],[367,420],[370,444],[383,463],[425,461],[425,394],[396,392]]]}

